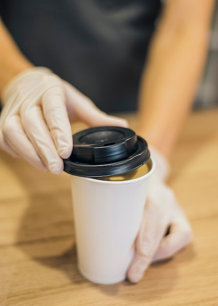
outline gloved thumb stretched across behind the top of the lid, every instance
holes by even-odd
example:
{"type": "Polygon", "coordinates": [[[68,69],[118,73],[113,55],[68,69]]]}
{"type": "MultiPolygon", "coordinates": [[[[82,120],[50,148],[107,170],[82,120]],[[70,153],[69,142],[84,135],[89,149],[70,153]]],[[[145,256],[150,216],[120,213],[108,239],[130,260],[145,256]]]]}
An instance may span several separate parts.
{"type": "Polygon", "coordinates": [[[128,127],[127,120],[110,116],[101,111],[96,105],[75,87],[64,82],[67,95],[67,107],[72,119],[80,119],[91,127],[120,126],[128,127]]]}

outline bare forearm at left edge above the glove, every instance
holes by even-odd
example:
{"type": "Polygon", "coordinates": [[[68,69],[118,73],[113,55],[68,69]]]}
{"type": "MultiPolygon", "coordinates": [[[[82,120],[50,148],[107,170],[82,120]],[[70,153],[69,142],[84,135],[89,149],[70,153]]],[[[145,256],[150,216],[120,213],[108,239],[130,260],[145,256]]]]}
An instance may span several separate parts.
{"type": "Polygon", "coordinates": [[[16,74],[31,66],[0,20],[0,95],[16,74]]]}

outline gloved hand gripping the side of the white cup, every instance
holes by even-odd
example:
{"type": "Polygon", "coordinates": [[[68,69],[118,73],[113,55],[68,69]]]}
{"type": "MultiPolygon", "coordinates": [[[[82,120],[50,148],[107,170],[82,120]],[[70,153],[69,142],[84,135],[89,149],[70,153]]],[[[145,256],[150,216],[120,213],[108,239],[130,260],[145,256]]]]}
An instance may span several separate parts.
{"type": "Polygon", "coordinates": [[[142,278],[152,262],[171,258],[192,240],[191,226],[173,191],[165,184],[169,173],[168,162],[157,150],[149,149],[156,169],[151,177],[136,240],[136,254],[127,273],[133,283],[142,278]]]}

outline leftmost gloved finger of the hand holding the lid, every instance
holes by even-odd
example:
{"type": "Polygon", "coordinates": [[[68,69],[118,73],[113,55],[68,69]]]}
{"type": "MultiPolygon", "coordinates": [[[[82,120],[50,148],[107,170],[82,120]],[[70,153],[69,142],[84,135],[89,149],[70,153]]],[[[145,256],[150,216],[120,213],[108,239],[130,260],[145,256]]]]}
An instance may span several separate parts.
{"type": "Polygon", "coordinates": [[[5,141],[23,159],[27,160],[34,167],[47,172],[48,169],[37,154],[35,148],[23,131],[19,116],[10,117],[2,127],[5,141]]]}

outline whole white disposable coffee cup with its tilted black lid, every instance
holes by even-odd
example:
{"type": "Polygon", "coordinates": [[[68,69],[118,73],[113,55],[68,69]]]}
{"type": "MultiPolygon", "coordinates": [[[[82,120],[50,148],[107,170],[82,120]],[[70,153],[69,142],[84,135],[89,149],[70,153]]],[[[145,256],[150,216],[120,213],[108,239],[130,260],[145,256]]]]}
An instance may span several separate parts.
{"type": "Polygon", "coordinates": [[[98,284],[118,283],[135,254],[154,162],[130,129],[91,128],[73,142],[64,171],[72,180],[79,271],[98,284]]]}

